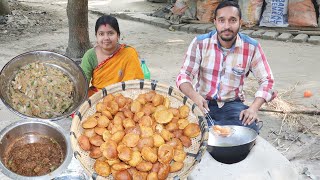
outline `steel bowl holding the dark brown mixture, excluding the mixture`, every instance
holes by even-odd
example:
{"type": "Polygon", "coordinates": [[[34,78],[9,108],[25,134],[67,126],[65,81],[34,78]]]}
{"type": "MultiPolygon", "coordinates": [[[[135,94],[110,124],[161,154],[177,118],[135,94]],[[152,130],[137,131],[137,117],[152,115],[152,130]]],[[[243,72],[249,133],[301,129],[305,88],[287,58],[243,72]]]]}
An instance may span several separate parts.
{"type": "Polygon", "coordinates": [[[70,145],[69,135],[67,132],[51,121],[41,120],[22,120],[15,122],[0,132],[0,169],[3,174],[12,179],[23,180],[42,180],[53,179],[65,171],[72,159],[72,149],[70,145]],[[26,140],[26,143],[37,142],[39,136],[47,136],[53,138],[61,147],[64,160],[62,164],[49,174],[42,176],[22,176],[10,171],[5,164],[5,153],[8,147],[12,145],[16,139],[21,137],[26,140]]]}

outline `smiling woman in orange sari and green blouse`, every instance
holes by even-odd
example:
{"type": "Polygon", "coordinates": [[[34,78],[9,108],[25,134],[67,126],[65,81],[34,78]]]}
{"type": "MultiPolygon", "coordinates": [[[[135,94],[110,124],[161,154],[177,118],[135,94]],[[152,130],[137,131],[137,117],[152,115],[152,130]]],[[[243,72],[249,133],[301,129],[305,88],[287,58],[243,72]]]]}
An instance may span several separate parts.
{"type": "Polygon", "coordinates": [[[120,44],[116,18],[101,16],[95,26],[97,44],[83,56],[81,68],[91,82],[88,96],[117,82],[143,79],[138,53],[133,47],[120,44]]]}

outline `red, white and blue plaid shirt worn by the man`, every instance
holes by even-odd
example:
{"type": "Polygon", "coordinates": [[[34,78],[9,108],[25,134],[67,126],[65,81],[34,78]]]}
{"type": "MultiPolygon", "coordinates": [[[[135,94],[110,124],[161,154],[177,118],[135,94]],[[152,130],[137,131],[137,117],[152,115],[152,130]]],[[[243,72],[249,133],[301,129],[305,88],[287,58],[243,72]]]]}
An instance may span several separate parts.
{"type": "Polygon", "coordinates": [[[274,79],[260,44],[238,33],[230,51],[223,51],[216,31],[195,37],[176,79],[177,87],[195,80],[195,89],[207,100],[242,99],[244,79],[252,72],[260,85],[255,97],[273,98],[274,79]]]}

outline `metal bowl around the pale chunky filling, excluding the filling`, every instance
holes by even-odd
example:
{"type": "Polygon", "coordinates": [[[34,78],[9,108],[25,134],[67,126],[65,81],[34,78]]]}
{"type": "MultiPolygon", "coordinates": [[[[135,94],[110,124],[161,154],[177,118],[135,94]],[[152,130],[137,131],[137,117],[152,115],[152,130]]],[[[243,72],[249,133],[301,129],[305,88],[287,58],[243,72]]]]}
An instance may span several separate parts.
{"type": "Polygon", "coordinates": [[[2,68],[0,72],[0,98],[11,111],[23,118],[45,120],[44,118],[31,117],[22,114],[11,105],[9,85],[16,76],[16,70],[33,62],[45,63],[48,66],[60,69],[63,73],[69,76],[70,80],[74,84],[73,105],[67,112],[47,120],[65,118],[73,113],[85,101],[88,93],[88,82],[81,68],[72,59],[49,51],[31,51],[14,57],[2,68]]]}

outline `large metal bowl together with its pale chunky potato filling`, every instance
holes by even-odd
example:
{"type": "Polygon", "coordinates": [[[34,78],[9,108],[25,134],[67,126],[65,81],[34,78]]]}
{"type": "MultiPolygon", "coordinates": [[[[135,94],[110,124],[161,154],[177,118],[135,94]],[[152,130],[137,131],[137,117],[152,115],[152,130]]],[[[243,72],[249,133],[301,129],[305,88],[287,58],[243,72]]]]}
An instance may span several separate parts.
{"type": "Polygon", "coordinates": [[[0,72],[0,98],[23,118],[65,118],[84,102],[87,91],[88,82],[81,68],[54,52],[23,53],[0,72]]]}

